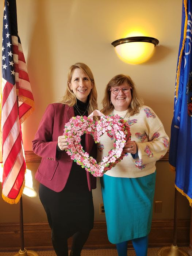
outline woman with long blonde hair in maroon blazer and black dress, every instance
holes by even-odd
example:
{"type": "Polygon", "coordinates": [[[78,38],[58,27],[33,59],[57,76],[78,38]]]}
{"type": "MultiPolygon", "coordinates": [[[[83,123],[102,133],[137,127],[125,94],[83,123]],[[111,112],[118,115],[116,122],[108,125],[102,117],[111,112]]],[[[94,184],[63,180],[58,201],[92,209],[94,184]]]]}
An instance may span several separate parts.
{"type": "MultiPolygon", "coordinates": [[[[32,141],[33,151],[42,157],[35,174],[40,182],[39,198],[51,228],[57,256],[68,256],[68,238],[73,236],[70,256],[80,256],[93,228],[92,189],[96,178],[70,159],[65,149],[65,123],[72,116],[88,116],[97,109],[97,91],[91,69],[84,63],[69,68],[68,84],[61,102],[49,104],[32,141]]],[[[81,136],[81,145],[96,157],[90,134],[81,136]]]]}

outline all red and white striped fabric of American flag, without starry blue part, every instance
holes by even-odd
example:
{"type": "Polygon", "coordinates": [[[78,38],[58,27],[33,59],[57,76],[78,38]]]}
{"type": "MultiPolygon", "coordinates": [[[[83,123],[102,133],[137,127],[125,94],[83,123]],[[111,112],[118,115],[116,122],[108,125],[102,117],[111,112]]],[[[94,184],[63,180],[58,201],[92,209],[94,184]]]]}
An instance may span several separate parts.
{"type": "Polygon", "coordinates": [[[17,203],[24,189],[24,174],[26,170],[21,123],[34,110],[34,99],[22,46],[18,43],[18,37],[12,36],[12,46],[15,85],[2,79],[2,196],[8,203],[17,203]]]}

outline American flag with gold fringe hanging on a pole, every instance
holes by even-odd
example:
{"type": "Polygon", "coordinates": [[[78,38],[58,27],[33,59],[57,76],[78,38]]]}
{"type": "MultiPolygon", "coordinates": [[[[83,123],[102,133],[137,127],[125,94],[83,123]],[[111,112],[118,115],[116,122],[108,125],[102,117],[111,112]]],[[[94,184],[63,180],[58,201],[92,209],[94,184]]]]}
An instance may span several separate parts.
{"type": "Polygon", "coordinates": [[[18,36],[16,0],[5,0],[4,5],[0,108],[2,197],[8,203],[18,203],[26,171],[21,123],[34,110],[34,99],[18,36]]]}

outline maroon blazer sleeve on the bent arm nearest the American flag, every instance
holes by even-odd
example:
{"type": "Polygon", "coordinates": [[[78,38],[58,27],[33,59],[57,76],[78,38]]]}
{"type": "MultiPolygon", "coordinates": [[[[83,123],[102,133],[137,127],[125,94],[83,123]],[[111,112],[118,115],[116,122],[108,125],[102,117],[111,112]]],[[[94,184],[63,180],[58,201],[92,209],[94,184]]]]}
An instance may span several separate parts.
{"type": "Polygon", "coordinates": [[[57,141],[52,140],[55,109],[49,104],[43,114],[35,138],[32,141],[32,150],[41,157],[52,160],[57,158],[57,141]]]}

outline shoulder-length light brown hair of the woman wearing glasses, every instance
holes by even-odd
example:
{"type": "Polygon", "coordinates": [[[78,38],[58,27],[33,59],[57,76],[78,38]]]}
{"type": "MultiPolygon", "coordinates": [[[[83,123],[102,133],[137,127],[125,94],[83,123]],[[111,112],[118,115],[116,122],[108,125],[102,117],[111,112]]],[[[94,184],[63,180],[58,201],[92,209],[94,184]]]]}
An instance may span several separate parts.
{"type": "Polygon", "coordinates": [[[102,100],[103,109],[101,112],[105,113],[111,110],[114,110],[114,106],[111,103],[111,87],[118,87],[122,85],[123,83],[127,83],[131,87],[131,103],[128,107],[127,114],[126,115],[134,115],[139,113],[139,107],[143,105],[143,100],[139,98],[137,90],[135,88],[135,84],[130,76],[126,76],[124,74],[118,74],[114,76],[109,83],[107,84],[107,87],[105,88],[105,94],[104,98],[102,100]]]}

